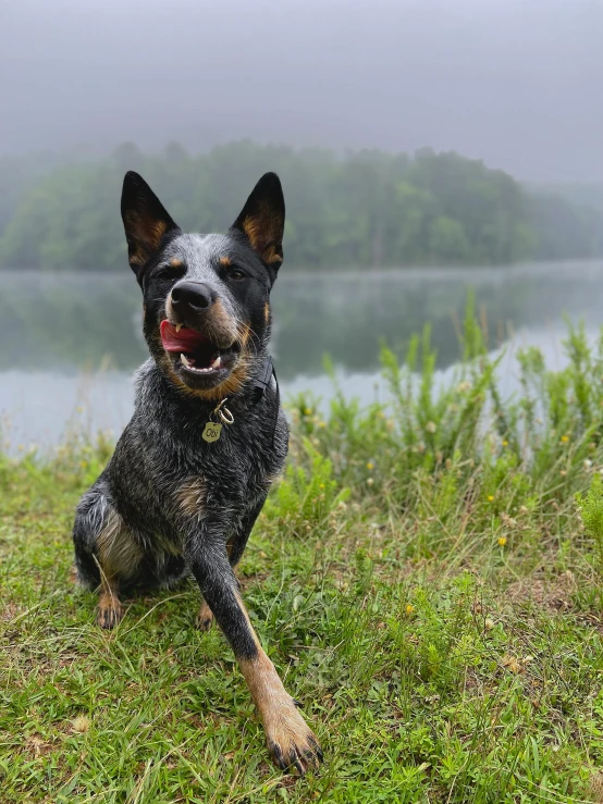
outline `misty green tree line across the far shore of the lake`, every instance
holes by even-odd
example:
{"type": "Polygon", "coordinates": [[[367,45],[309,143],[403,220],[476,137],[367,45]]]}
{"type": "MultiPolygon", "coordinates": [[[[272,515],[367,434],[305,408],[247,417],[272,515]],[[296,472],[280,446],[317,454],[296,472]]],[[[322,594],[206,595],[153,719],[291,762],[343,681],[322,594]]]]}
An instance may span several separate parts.
{"type": "MultiPolygon", "coordinates": [[[[284,185],[286,264],[488,265],[603,256],[603,211],[454,152],[231,143],[192,156],[124,144],[104,159],[0,160],[0,269],[123,270],[123,174],[136,170],[187,231],[227,228],[269,170],[284,185]]],[[[576,196],[576,194],[575,194],[576,196]]]]}

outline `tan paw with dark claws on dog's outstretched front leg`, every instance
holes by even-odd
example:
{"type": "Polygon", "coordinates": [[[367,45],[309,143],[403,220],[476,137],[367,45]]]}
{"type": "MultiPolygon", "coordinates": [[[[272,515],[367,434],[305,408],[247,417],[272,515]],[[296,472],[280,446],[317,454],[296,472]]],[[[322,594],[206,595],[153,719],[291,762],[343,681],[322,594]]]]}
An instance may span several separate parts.
{"type": "Polygon", "coordinates": [[[282,770],[296,768],[304,776],[322,762],[316,735],[293,704],[267,729],[266,740],[270,756],[282,770]]]}

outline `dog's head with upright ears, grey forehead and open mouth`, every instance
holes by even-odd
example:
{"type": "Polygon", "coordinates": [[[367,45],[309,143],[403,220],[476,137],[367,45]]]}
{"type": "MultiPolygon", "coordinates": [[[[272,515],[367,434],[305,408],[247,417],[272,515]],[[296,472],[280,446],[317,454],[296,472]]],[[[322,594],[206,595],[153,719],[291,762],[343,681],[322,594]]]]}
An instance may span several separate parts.
{"type": "Polygon", "coordinates": [[[283,261],[279,177],[260,178],[225,235],[198,235],[184,234],[148,184],[126,173],[122,219],[157,364],[189,394],[237,393],[270,336],[269,296],[283,261]]]}

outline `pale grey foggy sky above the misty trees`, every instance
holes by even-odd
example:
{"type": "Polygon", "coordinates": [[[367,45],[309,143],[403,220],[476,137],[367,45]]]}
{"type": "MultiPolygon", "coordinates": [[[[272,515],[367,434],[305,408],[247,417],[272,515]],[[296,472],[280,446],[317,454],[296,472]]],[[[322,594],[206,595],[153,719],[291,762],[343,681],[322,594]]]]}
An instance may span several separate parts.
{"type": "Polygon", "coordinates": [[[603,182],[603,0],[2,0],[0,153],[456,150],[603,182]]]}

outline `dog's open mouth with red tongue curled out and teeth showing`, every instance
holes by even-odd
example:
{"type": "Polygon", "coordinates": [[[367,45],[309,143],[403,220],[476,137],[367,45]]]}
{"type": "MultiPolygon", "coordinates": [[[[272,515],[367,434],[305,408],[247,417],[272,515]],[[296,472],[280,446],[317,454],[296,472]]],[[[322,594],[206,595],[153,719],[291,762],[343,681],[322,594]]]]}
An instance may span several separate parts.
{"type": "Polygon", "coordinates": [[[174,366],[188,378],[222,380],[236,362],[238,344],[223,348],[204,333],[189,326],[175,326],[164,319],[160,325],[161,342],[172,355],[174,366]]]}

